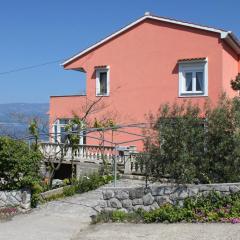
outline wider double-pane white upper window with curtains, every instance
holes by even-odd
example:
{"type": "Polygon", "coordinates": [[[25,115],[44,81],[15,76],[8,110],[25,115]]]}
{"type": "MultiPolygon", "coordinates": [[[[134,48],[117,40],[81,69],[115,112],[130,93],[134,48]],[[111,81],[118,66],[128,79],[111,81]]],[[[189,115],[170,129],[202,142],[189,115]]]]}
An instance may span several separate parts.
{"type": "Polygon", "coordinates": [[[179,96],[207,96],[207,60],[179,62],[179,96]]]}

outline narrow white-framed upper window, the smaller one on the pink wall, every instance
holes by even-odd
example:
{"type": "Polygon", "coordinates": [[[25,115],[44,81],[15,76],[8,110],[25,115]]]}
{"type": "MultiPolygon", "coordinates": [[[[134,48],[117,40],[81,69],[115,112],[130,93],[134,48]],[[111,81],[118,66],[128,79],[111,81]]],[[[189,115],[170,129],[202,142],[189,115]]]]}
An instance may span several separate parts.
{"type": "Polygon", "coordinates": [[[109,96],[109,68],[96,69],[96,96],[109,96]]]}

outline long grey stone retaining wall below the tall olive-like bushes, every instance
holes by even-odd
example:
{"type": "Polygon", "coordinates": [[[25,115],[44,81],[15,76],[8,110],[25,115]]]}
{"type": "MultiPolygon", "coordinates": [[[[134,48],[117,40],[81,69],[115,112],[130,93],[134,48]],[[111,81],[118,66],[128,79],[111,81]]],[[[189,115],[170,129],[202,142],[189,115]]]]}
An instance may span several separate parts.
{"type": "Polygon", "coordinates": [[[187,197],[208,195],[209,192],[221,195],[240,191],[240,183],[202,184],[202,185],[159,185],[148,189],[140,188],[104,188],[100,201],[102,211],[121,209],[129,212],[139,208],[150,211],[170,203],[183,205],[187,197]]]}

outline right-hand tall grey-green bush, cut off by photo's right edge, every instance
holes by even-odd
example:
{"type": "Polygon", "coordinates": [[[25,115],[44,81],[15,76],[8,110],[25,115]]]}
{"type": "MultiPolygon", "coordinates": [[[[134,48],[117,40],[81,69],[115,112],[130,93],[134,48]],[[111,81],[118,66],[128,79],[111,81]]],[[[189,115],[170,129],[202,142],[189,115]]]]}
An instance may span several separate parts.
{"type": "Polygon", "coordinates": [[[239,181],[240,101],[221,96],[215,108],[206,111],[207,150],[205,172],[212,182],[239,181]]]}

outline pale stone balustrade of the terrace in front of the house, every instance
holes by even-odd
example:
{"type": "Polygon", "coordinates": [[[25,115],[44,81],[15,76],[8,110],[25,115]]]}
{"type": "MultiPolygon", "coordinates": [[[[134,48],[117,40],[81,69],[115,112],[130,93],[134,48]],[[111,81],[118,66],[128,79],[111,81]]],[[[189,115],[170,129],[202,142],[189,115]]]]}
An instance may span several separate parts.
{"type": "Polygon", "coordinates": [[[107,164],[113,165],[114,159],[118,166],[118,170],[125,174],[142,174],[142,169],[138,167],[135,161],[135,149],[115,149],[111,146],[98,145],[78,145],[72,153],[71,148],[64,148],[63,144],[57,143],[41,143],[41,152],[45,157],[45,162],[51,161],[57,163],[74,164],[94,163],[102,164],[103,159],[107,164]],[[61,156],[62,154],[62,156],[61,156]]]}

